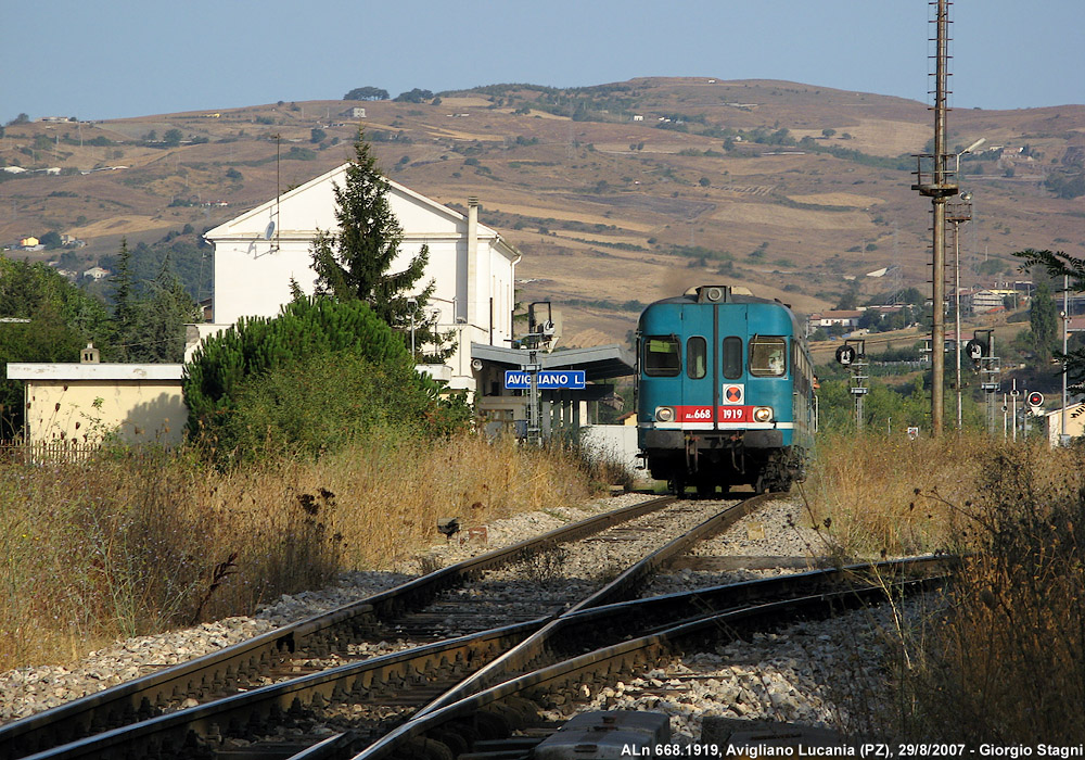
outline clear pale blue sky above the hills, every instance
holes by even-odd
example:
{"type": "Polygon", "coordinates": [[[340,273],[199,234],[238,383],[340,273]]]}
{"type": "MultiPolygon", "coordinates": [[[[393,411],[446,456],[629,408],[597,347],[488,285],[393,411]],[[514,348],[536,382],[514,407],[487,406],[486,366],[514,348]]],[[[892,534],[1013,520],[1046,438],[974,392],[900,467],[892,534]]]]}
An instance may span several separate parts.
{"type": "MultiPolygon", "coordinates": [[[[0,0],[0,123],[522,81],[788,79],[928,100],[928,0],[0,0]]],[[[1085,0],[957,0],[953,105],[1085,103],[1085,0]]]]}

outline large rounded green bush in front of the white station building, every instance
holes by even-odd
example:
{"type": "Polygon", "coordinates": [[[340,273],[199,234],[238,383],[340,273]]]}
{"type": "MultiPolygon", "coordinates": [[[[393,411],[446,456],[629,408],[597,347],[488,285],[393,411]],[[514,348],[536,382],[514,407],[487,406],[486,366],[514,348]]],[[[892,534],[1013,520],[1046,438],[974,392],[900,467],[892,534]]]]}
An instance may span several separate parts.
{"type": "Polygon", "coordinates": [[[183,390],[190,439],[220,457],[267,443],[319,453],[385,422],[442,433],[465,418],[357,300],[301,297],[278,317],[239,320],[200,347],[183,390]]]}

